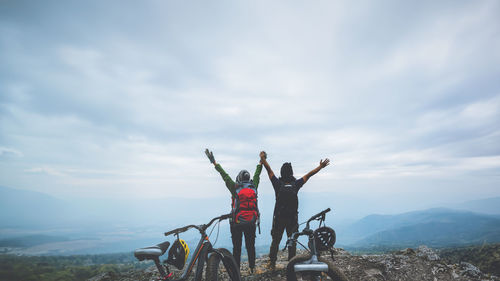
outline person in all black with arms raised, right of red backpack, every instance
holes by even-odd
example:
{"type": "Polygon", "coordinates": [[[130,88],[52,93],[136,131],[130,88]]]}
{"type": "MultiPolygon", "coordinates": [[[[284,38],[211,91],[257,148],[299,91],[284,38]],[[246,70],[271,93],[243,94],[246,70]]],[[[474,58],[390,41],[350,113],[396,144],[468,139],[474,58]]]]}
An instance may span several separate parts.
{"type": "MultiPolygon", "coordinates": [[[[324,161],[319,161],[319,166],[314,170],[307,173],[305,176],[296,179],[293,176],[292,164],[289,162],[283,163],[281,166],[281,177],[278,179],[274,175],[273,170],[267,163],[267,154],[262,151],[260,153],[260,162],[266,168],[269,179],[274,188],[276,195],[276,204],[274,205],[273,214],[273,227],[271,230],[272,242],[269,249],[269,267],[274,269],[276,266],[276,258],[278,254],[278,247],[283,237],[283,232],[286,229],[287,236],[297,232],[299,228],[298,223],[298,208],[299,199],[297,193],[300,188],[324,167],[330,164],[330,160],[326,158],[324,161]]],[[[289,245],[288,247],[288,260],[295,256],[296,244],[289,245]]]]}

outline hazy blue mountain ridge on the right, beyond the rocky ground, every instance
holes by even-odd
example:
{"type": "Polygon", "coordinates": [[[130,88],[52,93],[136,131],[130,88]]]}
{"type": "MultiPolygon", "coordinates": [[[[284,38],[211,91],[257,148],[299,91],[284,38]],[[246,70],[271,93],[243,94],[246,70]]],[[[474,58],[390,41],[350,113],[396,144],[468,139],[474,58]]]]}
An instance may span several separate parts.
{"type": "Polygon", "coordinates": [[[351,247],[448,247],[500,242],[500,216],[436,208],[370,215],[341,231],[351,247]]]}

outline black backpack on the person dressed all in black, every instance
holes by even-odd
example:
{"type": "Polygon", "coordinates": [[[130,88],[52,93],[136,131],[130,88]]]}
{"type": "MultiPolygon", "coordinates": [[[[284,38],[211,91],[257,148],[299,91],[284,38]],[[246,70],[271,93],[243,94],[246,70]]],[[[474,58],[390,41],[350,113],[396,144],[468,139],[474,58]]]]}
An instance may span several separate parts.
{"type": "Polygon", "coordinates": [[[295,216],[299,208],[298,189],[295,181],[287,183],[280,179],[280,188],[276,196],[276,209],[278,216],[295,216]]]}

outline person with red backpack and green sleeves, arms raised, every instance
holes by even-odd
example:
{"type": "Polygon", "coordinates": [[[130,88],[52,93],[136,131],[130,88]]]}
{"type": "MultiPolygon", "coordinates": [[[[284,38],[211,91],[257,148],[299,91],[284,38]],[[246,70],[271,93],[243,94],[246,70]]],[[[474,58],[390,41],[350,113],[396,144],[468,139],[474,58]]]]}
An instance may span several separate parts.
{"type": "Polygon", "coordinates": [[[226,187],[231,192],[231,214],[230,221],[231,240],[233,242],[233,256],[240,265],[242,236],[245,235],[245,247],[248,254],[248,265],[253,273],[255,268],[255,230],[259,227],[260,213],[257,204],[257,187],[259,186],[262,164],[259,163],[255,169],[253,179],[247,170],[241,170],[233,181],[231,177],[222,169],[221,165],[215,162],[214,154],[208,149],[205,150],[210,163],[215,170],[220,173],[226,183],[226,187]]]}

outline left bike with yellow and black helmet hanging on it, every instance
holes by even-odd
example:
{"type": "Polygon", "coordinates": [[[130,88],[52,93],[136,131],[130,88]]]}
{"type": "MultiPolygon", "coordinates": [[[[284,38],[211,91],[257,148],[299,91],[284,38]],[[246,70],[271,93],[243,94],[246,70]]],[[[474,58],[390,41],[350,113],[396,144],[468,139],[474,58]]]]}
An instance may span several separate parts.
{"type": "MultiPolygon", "coordinates": [[[[240,269],[234,259],[233,255],[224,248],[213,248],[212,243],[209,240],[209,236],[206,233],[206,230],[217,221],[217,226],[220,226],[220,222],[222,220],[228,219],[231,217],[231,214],[222,215],[216,218],[213,218],[209,223],[202,225],[187,225],[181,228],[177,228],[168,232],[165,232],[165,236],[175,235],[177,237],[176,242],[172,245],[169,250],[168,258],[163,261],[163,264],[160,263],[160,256],[162,256],[170,246],[170,242],[166,241],[156,246],[140,248],[134,251],[134,256],[139,260],[152,260],[156,267],[158,268],[158,272],[160,273],[161,278],[159,280],[187,280],[193,268],[196,264],[196,272],[194,276],[195,281],[200,281],[203,275],[203,267],[205,263],[207,264],[207,270],[205,272],[206,280],[218,280],[220,275],[225,275],[226,280],[231,281],[241,281],[240,269]],[[200,241],[198,242],[198,246],[196,247],[191,261],[188,266],[185,268],[179,279],[173,279],[173,273],[170,272],[169,265],[174,265],[179,270],[182,270],[184,267],[187,257],[189,254],[189,247],[185,244],[184,240],[179,239],[179,234],[188,231],[191,228],[195,228],[200,232],[200,241]],[[180,242],[179,242],[180,241],[180,242]],[[178,247],[174,247],[174,245],[178,245],[178,247]],[[208,260],[207,260],[208,259],[208,260]],[[221,266],[222,265],[224,268],[221,266]]],[[[215,229],[216,225],[212,228],[212,231],[215,229]]],[[[210,232],[210,234],[212,233],[210,232]]],[[[217,229],[218,236],[218,229],[217,229]]],[[[214,243],[215,244],[215,243],[214,243]]]]}

